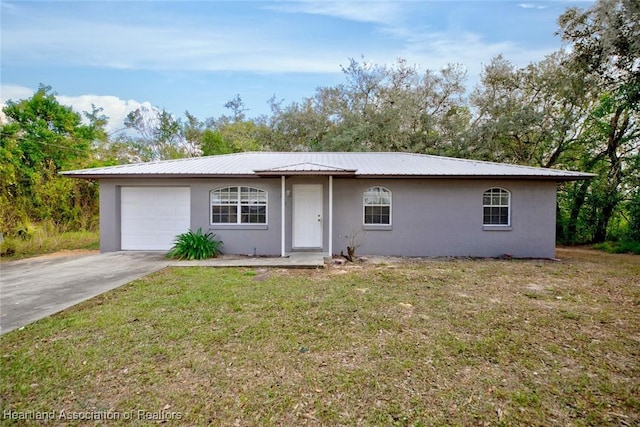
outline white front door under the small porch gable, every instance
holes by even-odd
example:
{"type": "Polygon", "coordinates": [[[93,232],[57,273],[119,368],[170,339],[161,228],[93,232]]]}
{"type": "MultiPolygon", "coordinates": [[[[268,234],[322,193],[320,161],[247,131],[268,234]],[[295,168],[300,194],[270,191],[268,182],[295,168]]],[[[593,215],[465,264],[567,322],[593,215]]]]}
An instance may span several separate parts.
{"type": "Polygon", "coordinates": [[[322,249],[322,184],[293,186],[293,248],[322,249]]]}

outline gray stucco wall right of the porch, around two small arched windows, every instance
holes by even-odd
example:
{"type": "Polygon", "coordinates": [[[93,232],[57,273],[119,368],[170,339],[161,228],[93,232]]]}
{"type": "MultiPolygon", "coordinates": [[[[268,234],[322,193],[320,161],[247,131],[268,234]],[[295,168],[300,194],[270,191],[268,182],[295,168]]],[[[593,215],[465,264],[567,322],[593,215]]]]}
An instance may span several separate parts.
{"type": "Polygon", "coordinates": [[[499,180],[334,180],[334,252],[366,228],[359,254],[399,256],[555,256],[556,184],[499,180]],[[392,226],[363,226],[362,196],[372,186],[392,193],[392,226]],[[492,187],[511,192],[511,227],[482,225],[482,195],[492,187]]]}

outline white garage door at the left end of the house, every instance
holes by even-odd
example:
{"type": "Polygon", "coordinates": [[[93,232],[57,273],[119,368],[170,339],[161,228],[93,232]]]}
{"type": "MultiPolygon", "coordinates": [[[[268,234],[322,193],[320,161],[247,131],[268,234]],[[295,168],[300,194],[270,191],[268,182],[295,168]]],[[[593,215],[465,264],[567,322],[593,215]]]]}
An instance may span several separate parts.
{"type": "Polygon", "coordinates": [[[188,187],[122,187],[120,248],[169,250],[191,226],[188,187]]]}

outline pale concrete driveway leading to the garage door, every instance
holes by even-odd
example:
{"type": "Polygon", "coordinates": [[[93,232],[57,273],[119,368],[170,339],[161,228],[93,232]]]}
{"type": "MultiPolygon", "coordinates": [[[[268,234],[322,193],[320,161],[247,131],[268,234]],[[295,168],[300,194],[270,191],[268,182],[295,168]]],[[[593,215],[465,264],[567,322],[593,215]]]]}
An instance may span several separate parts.
{"type": "Polygon", "coordinates": [[[0,334],[168,265],[162,252],[42,256],[0,264],[0,334]]]}

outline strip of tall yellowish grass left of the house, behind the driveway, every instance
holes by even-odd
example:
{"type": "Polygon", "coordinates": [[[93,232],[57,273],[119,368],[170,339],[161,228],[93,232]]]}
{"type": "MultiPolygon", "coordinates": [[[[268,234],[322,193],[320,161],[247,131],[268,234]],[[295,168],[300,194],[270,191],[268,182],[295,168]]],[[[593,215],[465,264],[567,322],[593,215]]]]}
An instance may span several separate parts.
{"type": "Polygon", "coordinates": [[[28,238],[5,238],[0,243],[0,262],[14,261],[58,251],[97,250],[100,233],[97,231],[52,232],[38,230],[28,238]]]}

